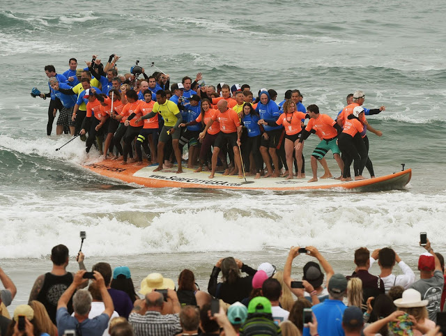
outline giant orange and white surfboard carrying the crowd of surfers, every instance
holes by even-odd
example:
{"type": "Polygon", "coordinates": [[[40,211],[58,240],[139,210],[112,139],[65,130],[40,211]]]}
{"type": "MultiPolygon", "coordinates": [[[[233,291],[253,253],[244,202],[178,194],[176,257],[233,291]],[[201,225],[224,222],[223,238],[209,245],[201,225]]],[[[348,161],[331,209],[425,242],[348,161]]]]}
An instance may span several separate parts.
{"type": "Polygon", "coordinates": [[[298,191],[298,190],[324,190],[324,189],[350,189],[358,191],[380,191],[380,190],[401,190],[409,183],[412,170],[406,169],[394,174],[368,178],[360,181],[341,182],[339,180],[320,179],[316,182],[308,183],[309,178],[286,180],[285,178],[259,178],[247,176],[223,176],[215,174],[215,178],[208,178],[209,171],[194,173],[192,169],[183,167],[182,174],[176,174],[176,167],[153,170],[153,166],[137,166],[132,163],[121,165],[122,161],[105,160],[97,163],[84,165],[87,169],[102,176],[116,178],[126,183],[137,183],[148,188],[206,188],[206,189],[229,189],[229,190],[278,190],[278,191],[298,191]]]}

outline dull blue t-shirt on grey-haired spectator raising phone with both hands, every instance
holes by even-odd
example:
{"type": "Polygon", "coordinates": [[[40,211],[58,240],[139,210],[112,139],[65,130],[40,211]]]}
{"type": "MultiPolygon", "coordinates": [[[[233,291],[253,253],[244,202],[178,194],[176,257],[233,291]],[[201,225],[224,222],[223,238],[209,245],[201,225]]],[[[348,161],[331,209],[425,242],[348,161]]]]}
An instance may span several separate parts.
{"type": "Polygon", "coordinates": [[[102,335],[104,330],[109,326],[109,316],[107,314],[100,314],[93,319],[86,319],[79,323],[77,319],[70,314],[65,307],[61,307],[56,312],[57,333],[63,336],[65,330],[76,330],[80,328],[82,336],[97,336],[102,335]],[[77,325],[80,324],[79,327],[77,325]]]}

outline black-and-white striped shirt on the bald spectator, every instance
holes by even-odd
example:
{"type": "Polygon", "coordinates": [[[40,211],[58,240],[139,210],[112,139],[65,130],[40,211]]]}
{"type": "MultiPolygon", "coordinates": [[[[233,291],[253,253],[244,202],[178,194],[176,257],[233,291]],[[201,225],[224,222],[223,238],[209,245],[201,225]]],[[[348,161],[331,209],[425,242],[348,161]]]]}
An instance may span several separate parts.
{"type": "Polygon", "coordinates": [[[183,330],[179,314],[162,315],[153,311],[148,311],[144,315],[132,313],[128,316],[128,321],[133,327],[135,336],[174,336],[183,330]]]}

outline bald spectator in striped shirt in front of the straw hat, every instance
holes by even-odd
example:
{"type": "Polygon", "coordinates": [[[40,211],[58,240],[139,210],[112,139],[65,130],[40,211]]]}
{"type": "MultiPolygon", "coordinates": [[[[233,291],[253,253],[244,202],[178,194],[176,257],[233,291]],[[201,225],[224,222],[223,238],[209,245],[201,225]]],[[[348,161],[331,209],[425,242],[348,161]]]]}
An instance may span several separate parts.
{"type": "Polygon", "coordinates": [[[183,330],[180,325],[181,305],[176,291],[166,291],[165,296],[160,291],[152,291],[143,300],[134,301],[128,321],[135,336],[174,336],[183,330]]]}

